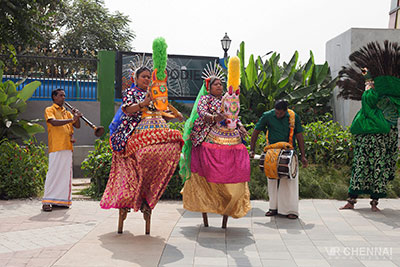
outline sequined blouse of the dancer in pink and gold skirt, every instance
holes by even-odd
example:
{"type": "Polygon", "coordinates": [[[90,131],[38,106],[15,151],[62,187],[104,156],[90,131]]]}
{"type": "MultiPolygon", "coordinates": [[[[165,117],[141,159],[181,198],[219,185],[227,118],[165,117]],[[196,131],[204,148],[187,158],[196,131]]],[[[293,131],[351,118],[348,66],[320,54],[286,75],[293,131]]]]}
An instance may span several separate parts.
{"type": "Polygon", "coordinates": [[[197,113],[199,117],[193,123],[193,129],[190,134],[193,146],[199,146],[207,137],[211,127],[215,123],[206,122],[206,115],[216,115],[217,112],[221,113],[221,98],[217,98],[211,94],[204,95],[200,98],[197,105],[197,113]]]}

